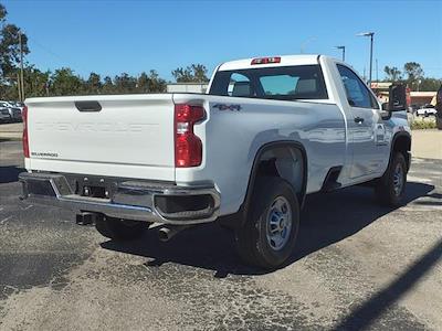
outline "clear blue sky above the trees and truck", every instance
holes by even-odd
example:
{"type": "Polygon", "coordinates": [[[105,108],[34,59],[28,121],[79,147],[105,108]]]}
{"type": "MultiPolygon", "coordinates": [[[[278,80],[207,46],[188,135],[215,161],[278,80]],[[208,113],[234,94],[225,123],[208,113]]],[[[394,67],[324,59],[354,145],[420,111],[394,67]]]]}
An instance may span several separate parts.
{"type": "Polygon", "coordinates": [[[442,77],[442,1],[20,1],[0,0],[29,38],[25,60],[42,71],[71,67],[114,76],[156,70],[166,79],[191,63],[284,54],[340,57],[373,79],[386,65],[418,62],[442,77]],[[376,70],[376,60],[378,71],[376,70]]]}

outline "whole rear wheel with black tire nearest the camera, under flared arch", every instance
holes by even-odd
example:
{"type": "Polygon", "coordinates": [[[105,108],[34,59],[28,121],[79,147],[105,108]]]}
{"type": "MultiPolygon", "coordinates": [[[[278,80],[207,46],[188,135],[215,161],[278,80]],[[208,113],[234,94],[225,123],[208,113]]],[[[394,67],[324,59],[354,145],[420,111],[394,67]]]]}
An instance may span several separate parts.
{"type": "Polygon", "coordinates": [[[235,229],[236,249],[249,265],[273,269],[292,255],[299,228],[299,205],[290,183],[260,178],[244,224],[235,229]]]}

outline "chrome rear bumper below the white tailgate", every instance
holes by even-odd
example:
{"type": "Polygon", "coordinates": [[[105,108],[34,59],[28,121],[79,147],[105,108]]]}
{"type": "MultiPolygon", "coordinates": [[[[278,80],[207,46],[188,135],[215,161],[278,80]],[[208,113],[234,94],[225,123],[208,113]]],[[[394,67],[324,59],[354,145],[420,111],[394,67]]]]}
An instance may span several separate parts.
{"type": "Polygon", "coordinates": [[[22,172],[19,180],[23,200],[74,212],[165,224],[208,223],[219,216],[220,193],[210,185],[177,186],[124,181],[116,183],[112,195],[104,199],[75,194],[63,174],[22,172]]]}

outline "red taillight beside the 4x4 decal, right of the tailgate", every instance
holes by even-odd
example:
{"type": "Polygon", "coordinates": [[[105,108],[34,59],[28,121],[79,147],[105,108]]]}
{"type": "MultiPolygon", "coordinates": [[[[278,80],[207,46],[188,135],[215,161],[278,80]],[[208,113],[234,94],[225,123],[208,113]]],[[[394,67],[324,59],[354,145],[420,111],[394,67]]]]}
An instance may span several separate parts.
{"type": "Polygon", "coordinates": [[[202,142],[193,132],[197,121],[204,118],[204,108],[175,105],[175,167],[198,167],[202,161],[202,142]]]}

